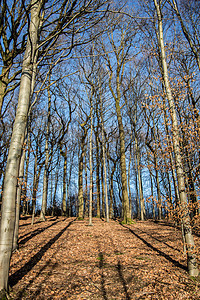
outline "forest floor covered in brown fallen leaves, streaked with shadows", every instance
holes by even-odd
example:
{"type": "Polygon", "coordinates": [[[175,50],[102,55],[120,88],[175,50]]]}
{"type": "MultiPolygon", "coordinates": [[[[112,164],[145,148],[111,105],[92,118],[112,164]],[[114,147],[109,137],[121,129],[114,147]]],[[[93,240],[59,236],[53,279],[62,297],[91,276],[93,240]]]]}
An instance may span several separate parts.
{"type": "MultiPolygon", "coordinates": [[[[11,258],[12,299],[200,299],[186,271],[181,232],[166,222],[20,220],[11,258]]],[[[200,267],[200,236],[195,235],[200,267]]]]}

